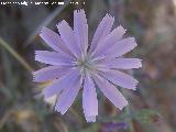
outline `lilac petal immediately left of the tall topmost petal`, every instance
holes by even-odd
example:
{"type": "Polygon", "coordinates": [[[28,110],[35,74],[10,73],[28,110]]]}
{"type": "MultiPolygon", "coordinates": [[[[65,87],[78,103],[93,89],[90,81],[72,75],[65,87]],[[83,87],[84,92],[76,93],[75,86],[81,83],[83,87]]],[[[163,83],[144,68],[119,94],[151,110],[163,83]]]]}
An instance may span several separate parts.
{"type": "Polygon", "coordinates": [[[72,28],[68,25],[68,23],[66,21],[62,21],[57,24],[57,29],[59,31],[61,37],[63,38],[67,47],[73,52],[75,56],[79,55],[79,46],[76,42],[74,32],[72,28]]]}

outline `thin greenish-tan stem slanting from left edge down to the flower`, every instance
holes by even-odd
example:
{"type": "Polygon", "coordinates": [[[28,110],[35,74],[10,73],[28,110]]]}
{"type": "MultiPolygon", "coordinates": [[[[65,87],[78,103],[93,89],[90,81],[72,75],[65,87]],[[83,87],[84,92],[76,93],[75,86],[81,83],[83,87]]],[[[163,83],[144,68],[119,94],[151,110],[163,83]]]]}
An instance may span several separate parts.
{"type": "Polygon", "coordinates": [[[24,66],[29,72],[32,72],[32,67],[12,48],[9,44],[0,37],[0,45],[4,47],[21,65],[24,66]]]}

